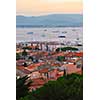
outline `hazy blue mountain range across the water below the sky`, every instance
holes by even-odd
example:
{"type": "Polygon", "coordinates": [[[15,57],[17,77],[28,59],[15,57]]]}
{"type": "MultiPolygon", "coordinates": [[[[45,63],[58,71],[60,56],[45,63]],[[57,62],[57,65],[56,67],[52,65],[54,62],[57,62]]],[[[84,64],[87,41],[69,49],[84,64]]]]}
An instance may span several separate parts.
{"type": "Polygon", "coordinates": [[[16,16],[16,27],[81,27],[81,14],[51,14],[43,16],[16,16]]]}

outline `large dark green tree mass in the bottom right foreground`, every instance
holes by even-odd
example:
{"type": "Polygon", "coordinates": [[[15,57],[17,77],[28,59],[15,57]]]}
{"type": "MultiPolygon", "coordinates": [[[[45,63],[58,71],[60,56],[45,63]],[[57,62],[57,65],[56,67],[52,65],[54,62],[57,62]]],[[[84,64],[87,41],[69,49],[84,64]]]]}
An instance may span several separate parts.
{"type": "Polygon", "coordinates": [[[83,76],[71,74],[49,81],[20,100],[83,100],[83,76]]]}

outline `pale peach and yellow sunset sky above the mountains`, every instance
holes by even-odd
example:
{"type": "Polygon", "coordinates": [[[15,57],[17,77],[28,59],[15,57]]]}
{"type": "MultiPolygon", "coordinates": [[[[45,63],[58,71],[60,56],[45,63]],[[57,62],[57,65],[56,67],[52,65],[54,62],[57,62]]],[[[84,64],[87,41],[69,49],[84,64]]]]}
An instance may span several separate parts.
{"type": "Polygon", "coordinates": [[[57,13],[81,13],[82,0],[16,0],[16,14],[40,16],[57,13]]]}

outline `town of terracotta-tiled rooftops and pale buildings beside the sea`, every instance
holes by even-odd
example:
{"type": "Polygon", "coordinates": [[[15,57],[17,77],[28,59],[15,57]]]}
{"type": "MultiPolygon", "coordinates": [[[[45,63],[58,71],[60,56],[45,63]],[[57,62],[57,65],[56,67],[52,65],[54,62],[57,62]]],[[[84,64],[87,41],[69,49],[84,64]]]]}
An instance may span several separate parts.
{"type": "Polygon", "coordinates": [[[31,90],[40,88],[49,80],[57,80],[64,74],[82,74],[82,51],[59,51],[57,43],[27,43],[16,46],[16,75],[28,75],[31,90]],[[66,73],[65,73],[66,72],[66,73]]]}

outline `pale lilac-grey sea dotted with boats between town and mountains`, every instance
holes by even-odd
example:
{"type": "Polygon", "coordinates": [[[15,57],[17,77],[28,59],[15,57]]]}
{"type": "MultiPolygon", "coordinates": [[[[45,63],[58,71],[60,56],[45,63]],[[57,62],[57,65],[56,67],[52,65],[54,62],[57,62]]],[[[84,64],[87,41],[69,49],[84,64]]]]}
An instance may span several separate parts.
{"type": "Polygon", "coordinates": [[[19,42],[80,42],[83,43],[83,27],[17,27],[16,43],[19,42]]]}

